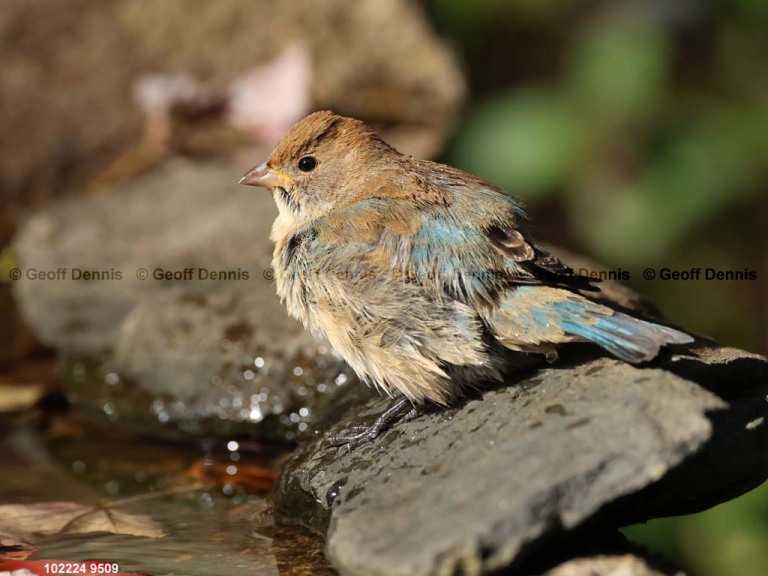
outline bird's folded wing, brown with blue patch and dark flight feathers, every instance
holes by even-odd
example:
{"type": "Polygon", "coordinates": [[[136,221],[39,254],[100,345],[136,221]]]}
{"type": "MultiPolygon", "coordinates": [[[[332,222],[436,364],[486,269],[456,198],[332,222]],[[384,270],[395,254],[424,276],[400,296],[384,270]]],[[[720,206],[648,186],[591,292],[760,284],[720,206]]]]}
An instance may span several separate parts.
{"type": "Polygon", "coordinates": [[[376,197],[334,211],[317,230],[324,246],[478,309],[514,285],[571,286],[579,278],[513,227],[521,215],[492,190],[448,203],[376,197]]]}

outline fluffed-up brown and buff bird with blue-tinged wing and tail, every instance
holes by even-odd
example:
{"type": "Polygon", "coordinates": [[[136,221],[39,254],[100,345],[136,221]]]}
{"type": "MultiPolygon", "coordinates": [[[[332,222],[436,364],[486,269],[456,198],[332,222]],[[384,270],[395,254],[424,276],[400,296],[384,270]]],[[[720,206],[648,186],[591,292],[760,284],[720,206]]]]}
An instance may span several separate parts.
{"type": "Polygon", "coordinates": [[[425,406],[450,406],[532,358],[592,342],[632,363],[693,338],[595,297],[529,232],[522,204],[444,164],[400,153],[331,111],[294,124],[241,184],[270,190],[277,293],[358,376],[397,400],[355,447],[425,406]]]}

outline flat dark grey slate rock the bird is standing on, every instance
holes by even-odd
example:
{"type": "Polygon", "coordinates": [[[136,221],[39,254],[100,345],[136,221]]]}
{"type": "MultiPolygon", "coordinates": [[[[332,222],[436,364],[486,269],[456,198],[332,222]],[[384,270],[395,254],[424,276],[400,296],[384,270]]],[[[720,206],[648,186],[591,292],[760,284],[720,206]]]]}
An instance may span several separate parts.
{"type": "MultiPolygon", "coordinates": [[[[706,343],[642,368],[566,354],[351,453],[304,444],[278,509],[326,536],[344,576],[485,574],[585,527],[696,511],[768,476],[764,358],[706,343]],[[728,380],[729,399],[675,365],[728,380]]],[[[386,405],[349,406],[329,432],[386,405]]]]}

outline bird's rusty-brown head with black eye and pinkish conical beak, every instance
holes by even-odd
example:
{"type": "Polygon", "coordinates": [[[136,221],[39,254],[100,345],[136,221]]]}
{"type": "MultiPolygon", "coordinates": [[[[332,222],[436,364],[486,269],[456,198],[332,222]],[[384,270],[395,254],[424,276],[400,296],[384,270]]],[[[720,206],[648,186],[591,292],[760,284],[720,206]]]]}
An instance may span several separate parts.
{"type": "Polygon", "coordinates": [[[315,112],[240,183],[271,190],[281,216],[300,223],[359,199],[399,156],[360,120],[315,112]]]}

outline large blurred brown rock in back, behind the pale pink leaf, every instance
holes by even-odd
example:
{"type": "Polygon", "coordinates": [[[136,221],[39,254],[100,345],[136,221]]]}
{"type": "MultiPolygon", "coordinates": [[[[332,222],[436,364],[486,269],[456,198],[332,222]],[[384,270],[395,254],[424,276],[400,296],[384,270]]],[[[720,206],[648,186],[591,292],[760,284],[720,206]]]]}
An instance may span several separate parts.
{"type": "Polygon", "coordinates": [[[142,74],[189,74],[223,90],[297,42],[312,52],[313,107],[383,126],[413,154],[440,150],[465,82],[415,0],[7,0],[0,202],[79,190],[131,150],[142,74]]]}

